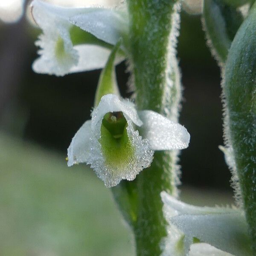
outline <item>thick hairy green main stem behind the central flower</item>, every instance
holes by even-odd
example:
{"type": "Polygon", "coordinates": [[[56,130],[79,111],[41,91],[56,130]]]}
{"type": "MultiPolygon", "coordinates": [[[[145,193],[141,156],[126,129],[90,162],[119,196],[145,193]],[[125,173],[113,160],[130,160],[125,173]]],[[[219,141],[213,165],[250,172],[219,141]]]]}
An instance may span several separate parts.
{"type": "MultiPolygon", "coordinates": [[[[129,0],[131,69],[139,109],[177,121],[180,77],[175,57],[178,6],[172,0],[129,0]]],[[[177,152],[158,151],[148,169],[133,182],[137,255],[160,255],[166,233],[160,192],[176,195],[177,152]]]]}

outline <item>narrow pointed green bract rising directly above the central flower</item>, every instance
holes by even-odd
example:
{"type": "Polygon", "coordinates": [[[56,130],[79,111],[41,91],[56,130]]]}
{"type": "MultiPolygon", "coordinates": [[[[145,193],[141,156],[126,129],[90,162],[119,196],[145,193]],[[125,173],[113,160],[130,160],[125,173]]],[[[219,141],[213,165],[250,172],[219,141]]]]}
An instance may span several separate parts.
{"type": "Polygon", "coordinates": [[[116,72],[115,72],[115,57],[116,53],[120,47],[121,41],[119,41],[113,48],[111,55],[108,58],[105,68],[102,70],[99,83],[96,90],[96,95],[94,99],[94,107],[96,107],[102,96],[112,93],[119,95],[119,90],[116,82],[116,72]]]}

